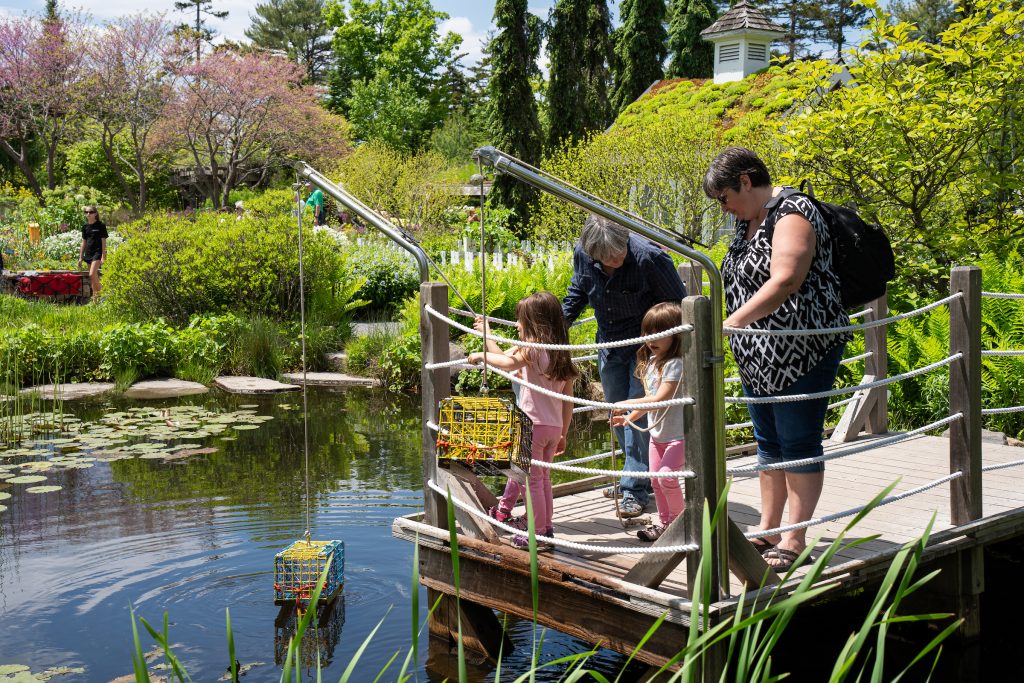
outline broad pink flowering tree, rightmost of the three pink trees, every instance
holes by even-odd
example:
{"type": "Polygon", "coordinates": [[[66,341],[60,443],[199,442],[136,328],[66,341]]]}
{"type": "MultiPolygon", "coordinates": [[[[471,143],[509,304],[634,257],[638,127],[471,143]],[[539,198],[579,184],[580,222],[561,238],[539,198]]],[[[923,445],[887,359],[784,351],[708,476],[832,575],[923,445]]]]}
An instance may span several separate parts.
{"type": "Polygon", "coordinates": [[[215,208],[289,157],[336,159],[348,148],[348,124],[319,106],[303,76],[281,57],[216,52],[182,70],[158,142],[191,158],[215,208]]]}

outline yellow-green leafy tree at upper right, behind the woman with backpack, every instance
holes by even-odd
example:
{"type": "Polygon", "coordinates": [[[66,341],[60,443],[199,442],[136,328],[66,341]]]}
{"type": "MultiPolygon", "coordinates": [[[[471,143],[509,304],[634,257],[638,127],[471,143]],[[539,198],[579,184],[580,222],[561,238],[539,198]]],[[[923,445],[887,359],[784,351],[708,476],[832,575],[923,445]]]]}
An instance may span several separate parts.
{"type": "MultiPolygon", "coordinates": [[[[975,9],[933,44],[874,8],[850,62],[856,87],[823,94],[779,131],[796,169],[782,180],[809,177],[819,196],[881,223],[907,287],[930,300],[949,266],[1011,248],[1024,229],[1024,8],[975,9]]],[[[802,62],[795,74],[812,92],[834,71],[802,62]]]]}

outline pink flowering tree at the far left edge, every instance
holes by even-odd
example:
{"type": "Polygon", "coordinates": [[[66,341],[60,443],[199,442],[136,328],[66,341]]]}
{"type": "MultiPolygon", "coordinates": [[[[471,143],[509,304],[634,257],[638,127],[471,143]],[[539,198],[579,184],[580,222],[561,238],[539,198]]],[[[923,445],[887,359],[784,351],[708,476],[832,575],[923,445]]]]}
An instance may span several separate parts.
{"type": "Polygon", "coordinates": [[[0,19],[0,150],[40,199],[30,147],[38,140],[45,148],[46,184],[53,188],[57,148],[81,121],[81,32],[75,17],[0,19]]]}

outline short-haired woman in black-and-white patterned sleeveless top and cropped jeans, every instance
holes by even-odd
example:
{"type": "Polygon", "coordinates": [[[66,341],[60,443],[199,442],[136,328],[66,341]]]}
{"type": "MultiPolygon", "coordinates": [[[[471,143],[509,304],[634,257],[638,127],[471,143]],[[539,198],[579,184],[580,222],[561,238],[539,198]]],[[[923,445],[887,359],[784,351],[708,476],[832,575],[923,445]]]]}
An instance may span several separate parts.
{"type": "MultiPolygon", "coordinates": [[[[833,270],[828,225],[805,195],[776,197],[768,168],[752,151],[726,147],[712,161],[705,194],[736,218],[722,262],[726,328],[804,330],[844,327],[839,278],[833,270]]],[[[728,334],[728,331],[726,332],[728,334]]],[[[849,333],[825,335],[731,334],[743,393],[773,397],[814,393],[836,382],[849,333]]],[[[822,455],[827,398],[749,403],[758,462],[776,465],[822,455]]],[[[814,514],[824,483],[820,462],[765,470],[759,529],[777,528],[788,504],[790,523],[814,514]]],[[[806,529],[755,542],[777,571],[806,548],[806,529]]]]}

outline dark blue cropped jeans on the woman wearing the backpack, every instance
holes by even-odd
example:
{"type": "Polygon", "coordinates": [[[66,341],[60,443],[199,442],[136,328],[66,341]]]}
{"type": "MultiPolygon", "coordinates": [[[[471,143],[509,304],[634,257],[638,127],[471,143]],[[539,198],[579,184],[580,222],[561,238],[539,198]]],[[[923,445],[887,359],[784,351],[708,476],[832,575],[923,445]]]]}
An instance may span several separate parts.
{"type": "MultiPolygon", "coordinates": [[[[846,344],[840,344],[831,349],[806,375],[774,395],[816,393],[831,389],[845,348],[846,344]]],[[[748,396],[758,395],[746,385],[743,385],[743,393],[748,396]]],[[[746,410],[754,423],[759,464],[771,465],[790,460],[817,458],[823,453],[821,435],[824,431],[825,413],[828,410],[827,398],[794,400],[787,403],[748,403],[746,410]]],[[[812,463],[788,467],[785,471],[811,474],[822,472],[824,469],[824,463],[812,463]]]]}

